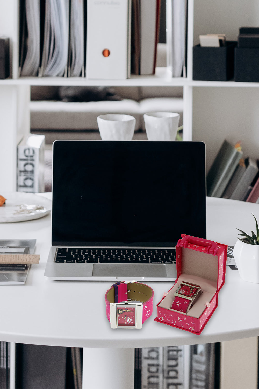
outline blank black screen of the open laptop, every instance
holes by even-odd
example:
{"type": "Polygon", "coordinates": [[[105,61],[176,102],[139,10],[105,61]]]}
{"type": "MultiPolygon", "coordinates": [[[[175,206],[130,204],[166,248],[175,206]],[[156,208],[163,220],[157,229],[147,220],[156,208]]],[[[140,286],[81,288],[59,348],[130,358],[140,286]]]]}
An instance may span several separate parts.
{"type": "Polygon", "coordinates": [[[206,238],[205,144],[57,140],[52,199],[53,245],[206,238]]]}

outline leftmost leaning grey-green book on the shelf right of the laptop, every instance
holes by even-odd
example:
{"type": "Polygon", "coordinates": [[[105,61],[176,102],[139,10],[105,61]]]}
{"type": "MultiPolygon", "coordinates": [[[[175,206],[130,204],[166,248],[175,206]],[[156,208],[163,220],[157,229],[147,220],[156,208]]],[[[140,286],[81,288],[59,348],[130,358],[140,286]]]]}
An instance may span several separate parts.
{"type": "Polygon", "coordinates": [[[222,196],[242,156],[238,145],[224,140],[207,174],[207,196],[222,196]]]}

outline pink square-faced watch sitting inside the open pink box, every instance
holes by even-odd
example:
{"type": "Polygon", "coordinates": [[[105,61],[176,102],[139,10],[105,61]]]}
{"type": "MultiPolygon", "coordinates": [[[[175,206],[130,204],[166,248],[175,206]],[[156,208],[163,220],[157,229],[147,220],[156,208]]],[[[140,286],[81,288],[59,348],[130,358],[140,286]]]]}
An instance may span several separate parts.
{"type": "Polygon", "coordinates": [[[171,305],[171,309],[186,314],[201,294],[202,289],[200,285],[189,284],[189,282],[181,282],[180,286],[174,293],[175,297],[171,305]]]}

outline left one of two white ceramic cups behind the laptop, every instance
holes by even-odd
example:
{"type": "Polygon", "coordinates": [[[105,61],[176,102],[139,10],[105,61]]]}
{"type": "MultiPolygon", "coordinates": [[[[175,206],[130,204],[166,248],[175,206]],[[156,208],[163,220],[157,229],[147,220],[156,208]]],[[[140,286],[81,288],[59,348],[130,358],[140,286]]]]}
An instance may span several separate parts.
{"type": "Polygon", "coordinates": [[[132,140],[136,119],[125,114],[107,114],[97,117],[102,140],[132,140]]]}

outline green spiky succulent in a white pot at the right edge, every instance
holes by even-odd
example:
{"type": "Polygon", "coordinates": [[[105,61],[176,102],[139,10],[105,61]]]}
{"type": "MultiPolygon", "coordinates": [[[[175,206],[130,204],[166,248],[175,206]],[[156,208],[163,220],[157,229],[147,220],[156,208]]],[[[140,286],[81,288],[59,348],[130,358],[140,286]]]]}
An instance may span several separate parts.
{"type": "MultiPolygon", "coordinates": [[[[253,215],[253,214],[252,214],[253,215]]],[[[254,215],[253,215],[254,216],[254,215]]],[[[238,231],[241,234],[238,238],[235,247],[233,249],[233,256],[235,258],[236,266],[240,277],[248,282],[259,283],[259,228],[256,217],[256,234],[254,231],[251,232],[251,235],[248,235],[242,230],[238,231]]]]}

